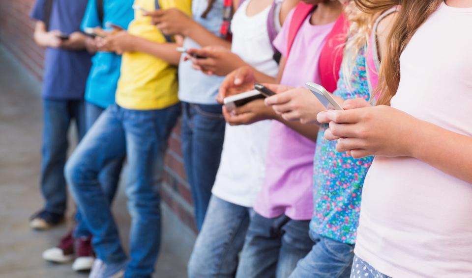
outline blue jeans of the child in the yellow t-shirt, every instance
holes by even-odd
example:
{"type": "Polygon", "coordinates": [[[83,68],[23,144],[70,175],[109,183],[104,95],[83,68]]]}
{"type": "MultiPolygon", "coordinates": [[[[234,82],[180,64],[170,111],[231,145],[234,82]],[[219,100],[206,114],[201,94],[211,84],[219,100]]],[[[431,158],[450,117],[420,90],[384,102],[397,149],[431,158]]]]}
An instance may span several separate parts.
{"type": "Polygon", "coordinates": [[[126,278],[149,277],[154,271],[161,232],[159,185],[167,139],[179,114],[179,104],[159,110],[129,110],[111,105],[66,165],[66,178],[93,234],[97,257],[105,263],[122,263],[126,255],[98,176],[111,161],[127,156],[126,195],[132,222],[126,278]]]}

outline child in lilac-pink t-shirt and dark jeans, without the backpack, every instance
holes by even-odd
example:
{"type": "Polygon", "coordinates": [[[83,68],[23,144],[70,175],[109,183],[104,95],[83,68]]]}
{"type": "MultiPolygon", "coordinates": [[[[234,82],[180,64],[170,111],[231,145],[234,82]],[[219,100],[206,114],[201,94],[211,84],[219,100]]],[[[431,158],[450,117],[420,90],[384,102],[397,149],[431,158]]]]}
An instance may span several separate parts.
{"type": "MultiPolygon", "coordinates": [[[[292,51],[288,51],[288,43],[294,13],[289,15],[274,42],[282,53],[281,65],[285,67],[281,68],[281,83],[284,85],[303,86],[313,78],[320,82],[320,52],[342,11],[342,5],[337,1],[308,3],[317,4],[317,7],[310,7],[312,12],[301,23],[290,46],[292,51]]],[[[240,86],[252,83],[250,76],[243,76],[241,79],[244,82],[240,86]]],[[[232,80],[233,77],[227,79],[232,80]]],[[[224,85],[224,91],[235,86],[231,82],[224,85]]],[[[250,123],[261,118],[260,111],[266,108],[259,108],[258,105],[264,107],[262,101],[252,101],[236,109],[236,115],[229,116],[230,123],[250,123]]],[[[314,140],[317,126],[295,125],[278,115],[271,117],[277,121],[273,121],[269,137],[265,184],[254,206],[256,214],[251,217],[236,277],[288,277],[297,261],[312,246],[308,224],[313,209],[311,191],[315,143],[299,132],[305,129],[303,134],[314,140]]]]}

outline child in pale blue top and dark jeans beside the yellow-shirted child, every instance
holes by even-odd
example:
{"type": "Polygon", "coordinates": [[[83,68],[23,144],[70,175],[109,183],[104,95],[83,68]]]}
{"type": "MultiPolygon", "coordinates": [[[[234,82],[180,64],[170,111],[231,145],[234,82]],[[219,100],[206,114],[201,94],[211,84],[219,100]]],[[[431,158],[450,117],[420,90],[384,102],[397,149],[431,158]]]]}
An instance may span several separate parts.
{"type": "MultiPolygon", "coordinates": [[[[231,43],[219,34],[224,23],[223,10],[231,15],[231,9],[228,0],[193,0],[193,17],[176,9],[155,11],[151,15],[164,33],[185,36],[183,46],[187,49],[208,45],[229,49],[231,43]],[[225,6],[224,2],[230,6],[225,6]]],[[[207,76],[192,69],[191,63],[184,62],[178,67],[178,77],[178,97],[183,113],[183,159],[195,207],[195,221],[200,230],[220,164],[225,134],[221,104],[215,100],[223,77],[207,76]]]]}

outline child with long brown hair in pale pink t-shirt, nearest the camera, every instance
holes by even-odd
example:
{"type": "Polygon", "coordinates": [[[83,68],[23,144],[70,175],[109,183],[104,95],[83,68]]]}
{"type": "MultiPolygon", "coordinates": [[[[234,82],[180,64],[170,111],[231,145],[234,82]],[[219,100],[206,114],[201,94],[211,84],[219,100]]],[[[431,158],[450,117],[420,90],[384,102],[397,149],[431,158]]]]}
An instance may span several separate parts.
{"type": "Polygon", "coordinates": [[[364,183],[352,277],[470,277],[472,39],[464,34],[472,2],[386,2],[401,5],[377,101],[391,107],[354,100],[350,110],[318,115],[332,121],[327,139],[342,137],[339,152],[376,155],[364,183]]]}

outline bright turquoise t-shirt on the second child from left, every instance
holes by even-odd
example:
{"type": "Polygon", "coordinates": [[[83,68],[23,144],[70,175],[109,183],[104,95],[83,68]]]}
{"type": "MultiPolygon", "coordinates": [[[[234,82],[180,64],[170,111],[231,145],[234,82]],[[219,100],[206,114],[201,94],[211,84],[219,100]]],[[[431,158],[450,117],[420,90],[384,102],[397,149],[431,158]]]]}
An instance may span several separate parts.
{"type": "MultiPolygon", "coordinates": [[[[100,22],[97,0],[89,0],[82,29],[100,26],[106,28],[107,22],[119,25],[124,29],[134,18],[131,8],[134,0],[103,0],[103,22],[100,22]]],[[[85,90],[85,100],[102,108],[115,103],[115,92],[121,67],[121,55],[113,52],[97,52],[92,58],[92,68],[85,90]]]]}

